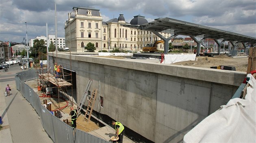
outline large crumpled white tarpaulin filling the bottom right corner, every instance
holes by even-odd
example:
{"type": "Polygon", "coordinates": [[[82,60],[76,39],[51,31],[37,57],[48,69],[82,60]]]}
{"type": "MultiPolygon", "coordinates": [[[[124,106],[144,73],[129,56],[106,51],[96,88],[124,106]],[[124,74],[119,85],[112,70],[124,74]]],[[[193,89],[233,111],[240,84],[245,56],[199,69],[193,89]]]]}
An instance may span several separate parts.
{"type": "Polygon", "coordinates": [[[202,120],[183,138],[184,143],[256,143],[256,80],[250,78],[245,99],[227,105],[202,120]]]}

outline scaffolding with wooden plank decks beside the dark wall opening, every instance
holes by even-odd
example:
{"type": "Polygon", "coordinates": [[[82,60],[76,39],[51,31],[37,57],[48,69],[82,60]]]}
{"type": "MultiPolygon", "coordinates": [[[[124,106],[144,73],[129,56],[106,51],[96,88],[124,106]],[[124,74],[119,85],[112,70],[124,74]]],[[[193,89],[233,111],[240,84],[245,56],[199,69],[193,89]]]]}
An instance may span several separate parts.
{"type": "MultiPolygon", "coordinates": [[[[53,52],[52,52],[53,53],[53,52]]],[[[57,55],[57,51],[56,51],[57,55]]],[[[47,53],[48,57],[48,53],[47,53]]],[[[69,51],[69,57],[70,57],[70,73],[66,73],[63,70],[63,66],[60,66],[60,73],[61,75],[58,76],[54,72],[53,68],[53,73],[51,73],[51,67],[49,66],[50,64],[47,63],[47,67],[43,68],[39,65],[35,65],[36,71],[37,71],[37,88],[39,91],[39,97],[48,97],[48,99],[51,101],[51,103],[54,105],[56,109],[51,110],[51,111],[57,111],[64,109],[68,105],[74,105],[73,102],[73,85],[72,85],[72,66],[71,66],[71,52],[69,51]],[[69,78],[69,77],[70,78],[69,78]],[[69,80],[67,80],[69,79],[69,80]],[[72,100],[70,99],[69,95],[67,94],[67,86],[71,86],[72,92],[71,92],[71,97],[72,100]],[[53,89],[56,89],[54,92],[53,89]],[[41,95],[40,95],[41,94],[41,95]],[[61,94],[61,97],[60,97],[61,94]],[[64,96],[64,97],[63,97],[64,96]],[[51,98],[57,98],[58,99],[58,105],[54,104],[51,98]],[[63,107],[60,107],[60,99],[66,101],[66,105],[63,107]]],[[[40,54],[39,54],[39,59],[40,59],[40,54]]],[[[57,63],[58,56],[56,56],[56,63],[57,63]]],[[[39,61],[40,63],[40,61],[39,61]]]]}

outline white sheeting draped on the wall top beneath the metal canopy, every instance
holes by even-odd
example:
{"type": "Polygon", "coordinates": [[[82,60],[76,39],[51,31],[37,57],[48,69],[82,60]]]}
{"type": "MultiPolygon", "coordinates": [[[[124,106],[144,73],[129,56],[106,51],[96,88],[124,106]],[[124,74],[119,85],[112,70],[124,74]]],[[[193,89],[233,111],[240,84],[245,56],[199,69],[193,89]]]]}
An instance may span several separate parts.
{"type": "Polygon", "coordinates": [[[195,61],[195,54],[168,54],[163,63],[171,64],[180,61],[195,61]]]}

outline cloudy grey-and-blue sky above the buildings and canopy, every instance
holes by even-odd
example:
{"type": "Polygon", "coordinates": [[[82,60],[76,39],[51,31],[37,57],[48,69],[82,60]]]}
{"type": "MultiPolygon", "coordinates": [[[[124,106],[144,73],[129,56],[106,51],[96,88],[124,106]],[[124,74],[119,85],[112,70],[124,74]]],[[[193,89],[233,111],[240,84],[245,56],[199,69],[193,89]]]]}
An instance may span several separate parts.
{"type": "MultiPolygon", "coordinates": [[[[54,7],[57,9],[57,35],[65,37],[64,25],[73,7],[100,9],[103,21],[124,14],[172,18],[256,37],[256,0],[1,0],[0,41],[22,42],[36,36],[55,35],[54,7]]],[[[178,36],[179,37],[179,36],[178,36]]]]}

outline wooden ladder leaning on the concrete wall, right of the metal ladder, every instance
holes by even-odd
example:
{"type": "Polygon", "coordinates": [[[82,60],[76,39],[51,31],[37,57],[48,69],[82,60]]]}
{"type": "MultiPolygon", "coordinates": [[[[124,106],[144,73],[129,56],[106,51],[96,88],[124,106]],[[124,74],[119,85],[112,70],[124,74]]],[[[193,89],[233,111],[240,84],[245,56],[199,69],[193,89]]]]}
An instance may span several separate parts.
{"type": "Polygon", "coordinates": [[[93,111],[93,106],[94,106],[94,103],[96,101],[97,94],[98,94],[98,90],[95,89],[95,90],[93,90],[93,93],[90,96],[91,98],[90,98],[90,101],[88,103],[87,109],[85,111],[85,120],[87,120],[87,123],[89,123],[89,120],[91,118],[91,113],[93,111]],[[87,118],[87,116],[88,116],[88,118],[87,118]]]}

